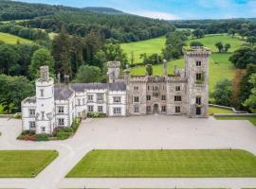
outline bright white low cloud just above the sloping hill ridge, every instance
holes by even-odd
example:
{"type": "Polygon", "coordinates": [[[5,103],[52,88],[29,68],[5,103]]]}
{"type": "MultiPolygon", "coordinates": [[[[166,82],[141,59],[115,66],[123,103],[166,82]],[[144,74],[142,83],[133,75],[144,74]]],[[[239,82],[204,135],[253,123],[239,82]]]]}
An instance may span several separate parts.
{"type": "Polygon", "coordinates": [[[133,13],[137,14],[139,16],[144,16],[144,17],[149,17],[149,18],[158,18],[158,19],[164,19],[164,20],[180,19],[177,15],[170,14],[167,12],[161,12],[161,11],[142,10],[142,11],[136,11],[133,13]]]}

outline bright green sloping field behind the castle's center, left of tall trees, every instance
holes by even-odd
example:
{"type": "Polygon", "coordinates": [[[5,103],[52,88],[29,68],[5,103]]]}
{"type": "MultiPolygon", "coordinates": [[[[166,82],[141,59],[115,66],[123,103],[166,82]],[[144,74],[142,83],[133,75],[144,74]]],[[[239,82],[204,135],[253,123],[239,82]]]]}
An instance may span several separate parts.
{"type": "Polygon", "coordinates": [[[151,40],[121,43],[120,45],[123,52],[126,53],[129,62],[131,62],[131,55],[132,52],[134,52],[134,63],[139,63],[142,62],[140,55],[143,53],[146,53],[147,55],[152,55],[154,53],[160,54],[164,48],[165,41],[165,36],[162,36],[151,40]]]}

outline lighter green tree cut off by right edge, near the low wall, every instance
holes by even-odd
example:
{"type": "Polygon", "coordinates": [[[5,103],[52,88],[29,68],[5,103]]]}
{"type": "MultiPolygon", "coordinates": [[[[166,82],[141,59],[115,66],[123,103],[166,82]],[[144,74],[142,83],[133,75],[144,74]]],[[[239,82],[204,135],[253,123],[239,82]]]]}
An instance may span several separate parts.
{"type": "Polygon", "coordinates": [[[251,75],[248,82],[252,86],[251,94],[243,105],[247,107],[250,112],[256,112],[256,74],[251,75]]]}

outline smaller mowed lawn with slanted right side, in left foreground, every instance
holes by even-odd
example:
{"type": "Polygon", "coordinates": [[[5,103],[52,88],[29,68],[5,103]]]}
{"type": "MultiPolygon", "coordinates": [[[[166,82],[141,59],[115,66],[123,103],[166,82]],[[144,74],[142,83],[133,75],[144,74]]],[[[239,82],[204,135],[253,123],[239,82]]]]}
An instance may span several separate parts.
{"type": "Polygon", "coordinates": [[[58,154],[56,150],[0,150],[0,178],[34,178],[58,154]]]}

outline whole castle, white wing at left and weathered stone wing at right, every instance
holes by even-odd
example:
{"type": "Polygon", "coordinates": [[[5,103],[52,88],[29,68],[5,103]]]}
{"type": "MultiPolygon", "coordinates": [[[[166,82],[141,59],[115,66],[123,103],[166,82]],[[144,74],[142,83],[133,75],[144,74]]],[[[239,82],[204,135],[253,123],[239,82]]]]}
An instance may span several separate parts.
{"type": "Polygon", "coordinates": [[[120,62],[110,61],[107,83],[54,84],[43,66],[35,82],[36,95],[22,101],[23,129],[51,134],[55,128],[70,127],[75,117],[88,112],[208,117],[210,50],[184,47],[183,53],[185,69],[175,69],[174,76],[167,75],[164,61],[162,77],[132,77],[128,69],[120,77],[120,62]]]}

